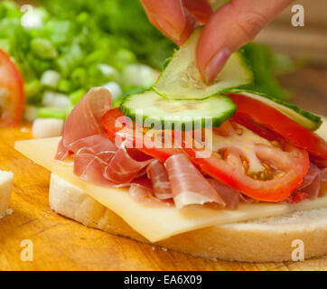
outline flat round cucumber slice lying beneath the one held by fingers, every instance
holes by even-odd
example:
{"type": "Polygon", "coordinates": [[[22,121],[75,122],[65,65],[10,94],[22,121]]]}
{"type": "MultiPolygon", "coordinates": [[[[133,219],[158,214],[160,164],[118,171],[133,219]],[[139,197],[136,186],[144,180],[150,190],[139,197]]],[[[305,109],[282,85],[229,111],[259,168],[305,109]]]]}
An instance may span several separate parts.
{"type": "Polygon", "coordinates": [[[142,122],[145,127],[192,130],[220,126],[234,116],[236,105],[226,96],[215,96],[202,101],[173,100],[162,98],[150,90],[126,97],[119,110],[136,123],[142,122]]]}

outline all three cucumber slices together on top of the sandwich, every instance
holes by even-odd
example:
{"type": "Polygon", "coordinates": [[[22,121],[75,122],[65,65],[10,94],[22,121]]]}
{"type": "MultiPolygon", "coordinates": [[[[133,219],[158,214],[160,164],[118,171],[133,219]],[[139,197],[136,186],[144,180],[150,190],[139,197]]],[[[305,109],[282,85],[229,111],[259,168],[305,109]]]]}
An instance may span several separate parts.
{"type": "MultiPolygon", "coordinates": [[[[234,104],[223,95],[240,93],[275,107],[283,115],[308,129],[315,130],[322,124],[320,117],[299,107],[250,90],[249,88],[254,87],[254,72],[242,51],[233,53],[217,78],[210,84],[205,83],[195,60],[200,33],[201,28],[198,28],[180,50],[173,54],[151,91],[125,98],[119,107],[124,115],[136,120],[135,116],[141,112],[149,120],[160,120],[164,123],[173,118],[183,126],[189,122],[194,123],[196,119],[211,117],[212,126],[218,127],[233,117],[236,111],[234,104]]],[[[205,124],[203,121],[201,123],[203,127],[205,124]]]]}

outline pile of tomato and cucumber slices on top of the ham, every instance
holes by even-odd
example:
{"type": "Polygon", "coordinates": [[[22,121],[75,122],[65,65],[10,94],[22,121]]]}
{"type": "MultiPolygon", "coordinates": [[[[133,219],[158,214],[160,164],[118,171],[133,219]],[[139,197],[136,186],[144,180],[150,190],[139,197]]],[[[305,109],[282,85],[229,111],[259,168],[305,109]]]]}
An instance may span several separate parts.
{"type": "Polygon", "coordinates": [[[317,197],[321,179],[314,181],[312,171],[318,176],[316,165],[327,166],[327,143],[313,130],[322,119],[249,90],[254,87],[253,72],[240,52],[232,55],[217,79],[204,83],[195,65],[198,36],[199,30],[175,52],[152,90],[129,96],[119,111],[107,112],[102,124],[109,138],[122,139],[120,144],[141,143],[136,146],[139,151],[165,163],[182,152],[205,175],[254,200],[317,197]],[[213,134],[211,147],[205,147],[210,154],[204,156],[194,133],[212,129],[206,118],[212,120],[213,134]],[[200,125],[195,126],[197,121],[200,125]],[[153,143],[149,128],[161,135],[153,143]],[[165,146],[167,135],[182,139],[182,144],[165,146]]]}

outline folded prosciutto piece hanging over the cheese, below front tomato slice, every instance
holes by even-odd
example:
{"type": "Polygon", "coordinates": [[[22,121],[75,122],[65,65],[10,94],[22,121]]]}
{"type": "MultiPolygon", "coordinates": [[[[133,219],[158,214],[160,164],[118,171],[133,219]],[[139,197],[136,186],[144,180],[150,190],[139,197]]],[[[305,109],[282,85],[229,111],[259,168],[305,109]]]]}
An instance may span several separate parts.
{"type": "Polygon", "coordinates": [[[164,163],[177,209],[194,204],[212,203],[225,207],[224,200],[215,191],[185,154],[173,154],[164,163]]]}

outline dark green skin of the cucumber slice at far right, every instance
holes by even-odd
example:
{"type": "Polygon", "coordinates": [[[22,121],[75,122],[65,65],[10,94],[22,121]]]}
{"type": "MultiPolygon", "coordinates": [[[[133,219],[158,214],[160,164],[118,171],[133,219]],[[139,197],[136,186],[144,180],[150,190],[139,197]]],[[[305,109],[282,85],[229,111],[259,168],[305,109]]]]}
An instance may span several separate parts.
{"type": "MultiPolygon", "coordinates": [[[[268,95],[266,95],[265,93],[262,93],[262,92],[253,91],[251,89],[226,89],[224,91],[224,94],[242,94],[242,92],[243,93],[254,94],[254,95],[257,95],[257,96],[262,97],[262,98],[267,98],[267,99],[269,99],[271,101],[276,102],[276,104],[279,104],[281,106],[288,107],[288,108],[294,110],[295,113],[297,113],[297,114],[301,115],[302,117],[305,117],[305,118],[307,118],[307,119],[309,119],[310,121],[313,122],[313,128],[307,127],[308,129],[310,129],[312,131],[317,130],[322,125],[322,118],[321,117],[313,115],[312,113],[310,113],[310,112],[308,112],[308,111],[306,111],[306,110],[304,110],[304,109],[302,109],[300,107],[296,107],[295,105],[293,105],[291,103],[285,102],[282,99],[268,96],[268,95]]],[[[303,126],[303,124],[301,124],[299,122],[298,122],[298,124],[303,126]]]]}

